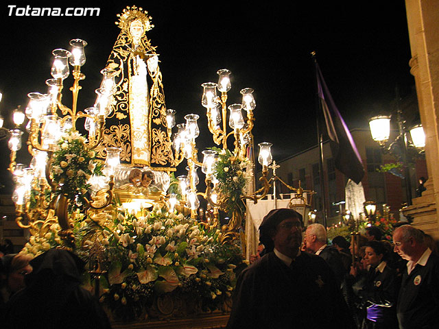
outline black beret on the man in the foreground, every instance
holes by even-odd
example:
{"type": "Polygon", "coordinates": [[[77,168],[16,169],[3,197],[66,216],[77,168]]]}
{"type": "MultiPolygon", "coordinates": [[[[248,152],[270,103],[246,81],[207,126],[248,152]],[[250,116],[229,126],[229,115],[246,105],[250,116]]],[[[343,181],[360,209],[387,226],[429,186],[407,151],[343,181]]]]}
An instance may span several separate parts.
{"type": "Polygon", "coordinates": [[[265,249],[271,252],[274,249],[274,243],[270,231],[276,229],[279,223],[284,219],[297,218],[303,226],[302,215],[296,210],[290,208],[273,209],[263,217],[262,223],[259,226],[259,241],[263,243],[265,249]]]}

